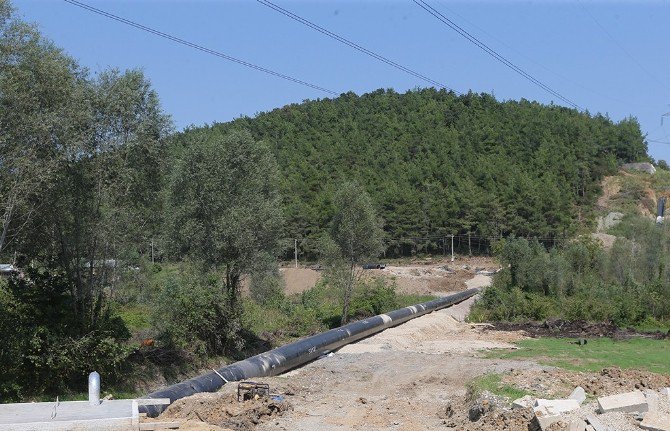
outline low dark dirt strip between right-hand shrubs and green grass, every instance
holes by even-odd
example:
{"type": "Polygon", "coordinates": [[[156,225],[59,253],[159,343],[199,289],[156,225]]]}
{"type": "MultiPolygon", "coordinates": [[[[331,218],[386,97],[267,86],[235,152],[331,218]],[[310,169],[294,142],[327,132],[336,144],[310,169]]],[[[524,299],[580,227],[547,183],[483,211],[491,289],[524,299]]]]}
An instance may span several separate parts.
{"type": "Polygon", "coordinates": [[[611,322],[586,322],[583,320],[546,320],[544,322],[498,322],[489,328],[497,331],[524,331],[529,337],[566,337],[566,338],[592,338],[610,337],[614,339],[626,339],[631,337],[645,337],[664,339],[670,336],[662,332],[639,332],[629,328],[618,328],[611,322]]]}

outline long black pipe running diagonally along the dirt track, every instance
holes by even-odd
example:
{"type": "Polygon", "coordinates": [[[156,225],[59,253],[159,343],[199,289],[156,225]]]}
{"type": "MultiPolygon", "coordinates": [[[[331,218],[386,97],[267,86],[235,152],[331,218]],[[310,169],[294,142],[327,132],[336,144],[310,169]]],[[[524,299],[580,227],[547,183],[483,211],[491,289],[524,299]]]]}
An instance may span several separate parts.
{"type": "MultiPolygon", "coordinates": [[[[353,343],[383,331],[386,328],[400,325],[415,317],[458,304],[477,293],[479,293],[479,289],[477,288],[468,289],[433,301],[349,323],[348,325],[277,347],[274,350],[252,356],[243,361],[235,362],[217,371],[176,383],[165,389],[153,392],[147,395],[146,398],[169,398],[172,403],[175,400],[199,392],[215,392],[228,382],[281,374],[292,368],[306,364],[324,353],[339,349],[346,344],[353,343]]],[[[165,408],[164,406],[143,407],[143,411],[150,417],[158,416],[165,408]]]]}

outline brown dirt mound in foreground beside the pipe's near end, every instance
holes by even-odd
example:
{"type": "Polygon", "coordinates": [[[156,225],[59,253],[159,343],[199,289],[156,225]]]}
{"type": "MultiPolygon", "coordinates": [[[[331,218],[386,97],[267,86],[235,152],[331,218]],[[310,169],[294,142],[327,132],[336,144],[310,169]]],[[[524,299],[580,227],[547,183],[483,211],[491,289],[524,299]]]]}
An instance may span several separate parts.
{"type": "Polygon", "coordinates": [[[199,421],[234,431],[249,431],[291,409],[288,402],[270,398],[238,402],[234,394],[203,393],[175,401],[160,419],[199,421]]]}

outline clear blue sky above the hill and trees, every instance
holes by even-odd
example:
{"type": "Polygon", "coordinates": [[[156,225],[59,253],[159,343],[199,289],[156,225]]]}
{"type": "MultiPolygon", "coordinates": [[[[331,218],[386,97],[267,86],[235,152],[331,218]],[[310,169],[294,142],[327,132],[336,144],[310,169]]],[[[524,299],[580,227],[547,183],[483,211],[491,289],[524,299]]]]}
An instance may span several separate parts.
{"type": "MultiPolygon", "coordinates": [[[[337,93],[429,85],[254,0],[81,1],[337,93]]],[[[274,2],[458,92],[564,104],[411,0],[274,2]]],[[[668,142],[649,142],[651,155],[670,161],[670,2],[427,2],[582,109],[637,117],[649,140],[668,142]]],[[[330,97],[61,0],[13,4],[91,71],[143,69],[179,129],[330,97]]]]}

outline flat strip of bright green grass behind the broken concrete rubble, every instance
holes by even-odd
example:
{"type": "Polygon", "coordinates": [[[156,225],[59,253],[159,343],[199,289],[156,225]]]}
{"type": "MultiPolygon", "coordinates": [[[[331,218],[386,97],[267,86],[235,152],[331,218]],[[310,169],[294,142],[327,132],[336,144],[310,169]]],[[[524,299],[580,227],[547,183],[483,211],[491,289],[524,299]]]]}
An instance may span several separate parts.
{"type": "Polygon", "coordinates": [[[640,369],[670,374],[670,340],[633,338],[616,341],[611,338],[590,339],[584,346],[569,338],[521,340],[518,350],[496,350],[490,357],[500,359],[535,359],[573,371],[600,371],[605,367],[640,369]]]}

